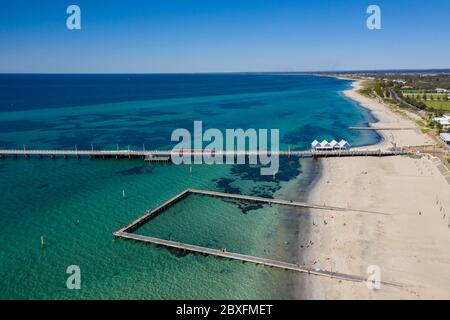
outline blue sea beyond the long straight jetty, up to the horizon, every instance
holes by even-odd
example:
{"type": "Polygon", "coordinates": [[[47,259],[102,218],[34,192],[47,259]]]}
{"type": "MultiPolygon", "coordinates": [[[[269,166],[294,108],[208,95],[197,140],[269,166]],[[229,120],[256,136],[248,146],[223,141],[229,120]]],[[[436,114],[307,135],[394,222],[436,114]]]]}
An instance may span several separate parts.
{"type": "Polygon", "coordinates": [[[348,81],[302,75],[0,75],[0,146],[168,148],[176,128],[279,128],[281,143],[373,142],[349,131],[370,115],[339,91],[348,81]]]}

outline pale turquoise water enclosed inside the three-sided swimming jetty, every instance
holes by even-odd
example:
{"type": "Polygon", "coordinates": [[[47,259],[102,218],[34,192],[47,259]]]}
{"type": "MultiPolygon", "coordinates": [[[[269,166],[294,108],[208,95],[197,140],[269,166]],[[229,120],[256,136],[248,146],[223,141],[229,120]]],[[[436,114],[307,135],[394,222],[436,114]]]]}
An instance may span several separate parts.
{"type": "Polygon", "coordinates": [[[293,211],[277,206],[191,195],[135,233],[295,262],[296,219],[293,211]],[[243,213],[245,209],[252,210],[243,213]]]}

